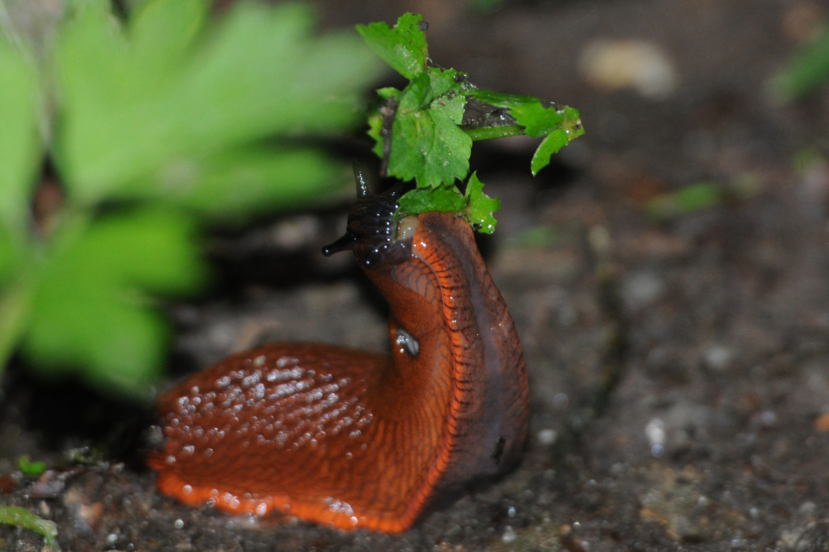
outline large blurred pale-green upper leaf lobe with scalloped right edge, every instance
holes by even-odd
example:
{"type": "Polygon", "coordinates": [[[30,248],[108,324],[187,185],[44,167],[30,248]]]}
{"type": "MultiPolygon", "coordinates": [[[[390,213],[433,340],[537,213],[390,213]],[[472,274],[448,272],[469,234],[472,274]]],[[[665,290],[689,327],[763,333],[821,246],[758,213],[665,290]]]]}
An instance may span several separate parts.
{"type": "Polygon", "coordinates": [[[205,4],[148,0],[126,31],[94,9],[63,26],[56,160],[70,199],[94,204],[181,158],[356,122],[379,69],[359,38],[310,36],[297,4],[246,2],[200,32],[205,4]]]}

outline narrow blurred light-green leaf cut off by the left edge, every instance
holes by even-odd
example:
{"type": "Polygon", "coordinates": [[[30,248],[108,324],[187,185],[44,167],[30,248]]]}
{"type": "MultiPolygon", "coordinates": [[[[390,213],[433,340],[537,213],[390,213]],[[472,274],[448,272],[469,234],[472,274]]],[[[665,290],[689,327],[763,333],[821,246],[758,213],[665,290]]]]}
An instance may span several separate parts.
{"type": "Polygon", "coordinates": [[[0,36],[0,223],[2,238],[18,246],[43,155],[38,98],[34,70],[0,36]]]}

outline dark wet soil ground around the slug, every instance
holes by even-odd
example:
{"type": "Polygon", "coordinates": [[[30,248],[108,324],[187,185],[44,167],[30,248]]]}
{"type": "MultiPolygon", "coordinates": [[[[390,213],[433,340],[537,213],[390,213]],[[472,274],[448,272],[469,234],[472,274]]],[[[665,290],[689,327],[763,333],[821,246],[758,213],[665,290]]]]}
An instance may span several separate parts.
{"type": "MultiPolygon", "coordinates": [[[[23,479],[0,504],[56,521],[70,550],[827,550],[829,433],[816,420],[829,411],[829,166],[813,156],[796,169],[793,159],[827,136],[829,95],[779,108],[765,94],[827,5],[516,2],[483,16],[440,0],[319,5],[326,26],[423,12],[440,65],[582,112],[587,135],[535,180],[532,142],[478,144],[473,154],[502,198],[482,249],[531,377],[521,467],[400,536],[232,518],[158,496],[153,473],[131,467],[134,452],[113,434],[133,433],[122,424],[133,411],[12,369],[0,474],[14,473],[20,454],[56,471],[23,479]],[[579,52],[597,38],[655,42],[676,88],[647,99],[589,84],[579,52]],[[656,194],[701,180],[726,192],[748,183],[752,197],[726,193],[662,223],[644,214],[656,194]],[[555,240],[523,247],[521,232],[541,224],[555,240]],[[620,312],[602,294],[607,238],[620,312]],[[601,406],[604,368],[620,379],[595,418],[588,407],[601,406]],[[122,446],[89,468],[64,459],[101,442],[122,446]]],[[[178,373],[264,340],[384,349],[377,295],[347,255],[318,255],[344,213],[216,238],[229,292],[170,308],[178,373]]],[[[31,532],[0,526],[0,550],[40,548],[31,532]]]]}

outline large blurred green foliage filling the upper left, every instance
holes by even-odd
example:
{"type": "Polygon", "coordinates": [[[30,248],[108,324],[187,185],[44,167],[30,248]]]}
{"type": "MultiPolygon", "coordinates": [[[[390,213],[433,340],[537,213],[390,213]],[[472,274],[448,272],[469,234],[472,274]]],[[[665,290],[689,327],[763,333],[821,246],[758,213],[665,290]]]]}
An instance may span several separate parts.
{"type": "Polygon", "coordinates": [[[360,122],[376,57],[353,33],[313,36],[297,4],[209,10],[148,0],[122,21],[75,0],[42,63],[0,36],[2,364],[20,350],[42,373],[142,393],[170,334],[154,298],[206,282],[201,228],[347,184],[296,138],[360,122]],[[50,179],[60,206],[37,218],[50,179]]]}

